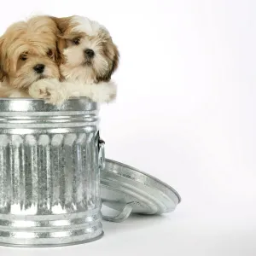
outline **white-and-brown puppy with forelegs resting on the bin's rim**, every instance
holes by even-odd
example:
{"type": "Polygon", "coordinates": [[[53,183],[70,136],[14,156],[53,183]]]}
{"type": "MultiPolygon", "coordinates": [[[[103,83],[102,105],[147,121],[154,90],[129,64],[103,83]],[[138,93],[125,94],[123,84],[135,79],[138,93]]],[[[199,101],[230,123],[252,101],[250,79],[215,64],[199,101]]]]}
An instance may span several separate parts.
{"type": "Polygon", "coordinates": [[[61,31],[61,76],[34,83],[30,94],[46,102],[61,104],[72,96],[87,96],[94,102],[110,102],[116,86],[110,81],[119,66],[119,50],[107,29],[81,16],[55,18],[61,31]]]}

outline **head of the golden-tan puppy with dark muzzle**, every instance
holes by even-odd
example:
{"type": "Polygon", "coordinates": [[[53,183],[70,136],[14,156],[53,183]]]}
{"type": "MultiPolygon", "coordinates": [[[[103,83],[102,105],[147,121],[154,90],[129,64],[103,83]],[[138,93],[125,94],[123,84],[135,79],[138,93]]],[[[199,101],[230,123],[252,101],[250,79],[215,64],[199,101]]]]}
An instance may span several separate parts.
{"type": "Polygon", "coordinates": [[[26,90],[44,78],[59,78],[57,50],[60,31],[46,16],[9,26],[0,38],[0,79],[26,90]]]}

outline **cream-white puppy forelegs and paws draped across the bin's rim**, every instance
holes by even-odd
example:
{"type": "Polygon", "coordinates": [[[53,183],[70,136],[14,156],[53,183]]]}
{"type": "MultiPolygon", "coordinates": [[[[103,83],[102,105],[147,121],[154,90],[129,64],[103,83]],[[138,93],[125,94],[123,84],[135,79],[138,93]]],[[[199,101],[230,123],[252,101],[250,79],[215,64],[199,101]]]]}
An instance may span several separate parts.
{"type": "Polygon", "coordinates": [[[41,79],[32,84],[29,94],[33,98],[45,99],[45,102],[61,105],[71,97],[88,97],[93,102],[111,102],[116,96],[113,81],[99,84],[84,84],[79,81],[59,82],[57,79],[41,79]]]}

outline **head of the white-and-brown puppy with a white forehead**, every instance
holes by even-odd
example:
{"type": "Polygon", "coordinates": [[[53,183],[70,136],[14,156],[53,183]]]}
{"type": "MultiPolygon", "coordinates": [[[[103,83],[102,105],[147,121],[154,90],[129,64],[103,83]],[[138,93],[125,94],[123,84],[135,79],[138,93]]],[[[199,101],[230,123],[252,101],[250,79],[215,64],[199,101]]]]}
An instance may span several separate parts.
{"type": "Polygon", "coordinates": [[[119,51],[105,27],[81,16],[55,18],[62,32],[61,75],[85,83],[109,81],[119,65],[119,51]]]}

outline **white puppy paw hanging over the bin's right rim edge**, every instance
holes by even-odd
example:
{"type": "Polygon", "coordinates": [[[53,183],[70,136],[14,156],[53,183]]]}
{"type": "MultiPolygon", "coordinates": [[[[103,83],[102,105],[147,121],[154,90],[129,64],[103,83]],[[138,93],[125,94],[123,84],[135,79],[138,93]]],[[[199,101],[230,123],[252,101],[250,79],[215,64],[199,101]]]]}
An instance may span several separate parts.
{"type": "Polygon", "coordinates": [[[90,98],[93,102],[109,103],[116,98],[117,90],[113,82],[92,84],[90,98]]]}

